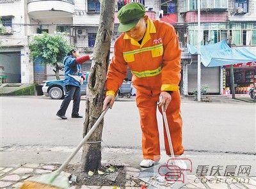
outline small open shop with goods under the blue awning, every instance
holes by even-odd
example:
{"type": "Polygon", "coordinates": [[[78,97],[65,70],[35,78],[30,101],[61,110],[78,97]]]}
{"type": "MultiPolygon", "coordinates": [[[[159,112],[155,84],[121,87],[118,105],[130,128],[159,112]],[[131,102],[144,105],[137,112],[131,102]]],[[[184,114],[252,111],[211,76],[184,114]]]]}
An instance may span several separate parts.
{"type": "MultiPolygon", "coordinates": [[[[248,89],[256,82],[256,62],[234,64],[234,85],[236,94],[247,94],[248,89]]],[[[230,66],[223,70],[223,94],[230,92],[230,66]]]]}

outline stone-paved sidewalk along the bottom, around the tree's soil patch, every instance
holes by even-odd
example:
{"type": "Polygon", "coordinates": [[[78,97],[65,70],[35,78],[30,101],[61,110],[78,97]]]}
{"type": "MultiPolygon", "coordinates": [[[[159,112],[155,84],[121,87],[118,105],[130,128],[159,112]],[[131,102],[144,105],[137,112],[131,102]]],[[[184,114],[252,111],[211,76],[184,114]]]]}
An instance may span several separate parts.
{"type": "MultiPolygon", "coordinates": [[[[41,163],[26,163],[24,165],[12,165],[10,167],[1,167],[0,188],[19,188],[22,182],[31,176],[40,175],[56,170],[59,165],[56,164],[41,164],[41,163]]],[[[70,189],[96,189],[96,188],[141,188],[145,185],[150,188],[147,183],[138,179],[140,170],[133,167],[125,167],[125,184],[124,186],[78,186],[71,184],[70,189]]],[[[67,177],[71,174],[64,172],[67,177]]],[[[205,176],[199,178],[195,175],[188,175],[188,182],[182,188],[215,188],[215,189],[235,189],[235,188],[255,188],[256,177],[237,178],[237,177],[223,177],[223,176],[205,176]],[[229,178],[229,179],[228,179],[229,178]],[[223,183],[227,181],[230,183],[223,183]]],[[[102,183],[104,184],[104,183],[102,183]]]]}

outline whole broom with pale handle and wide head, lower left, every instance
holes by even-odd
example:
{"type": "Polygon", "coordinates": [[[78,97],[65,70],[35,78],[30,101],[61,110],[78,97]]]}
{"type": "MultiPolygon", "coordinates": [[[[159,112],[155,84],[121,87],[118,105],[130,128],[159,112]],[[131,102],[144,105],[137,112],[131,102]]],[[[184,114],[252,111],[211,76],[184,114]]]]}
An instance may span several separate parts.
{"type": "Polygon", "coordinates": [[[23,185],[20,187],[20,189],[57,189],[57,188],[68,188],[68,178],[64,174],[61,173],[63,169],[65,169],[74,158],[74,156],[77,154],[79,149],[83,146],[83,144],[90,138],[94,130],[99,125],[100,121],[108,111],[109,107],[107,107],[101,114],[100,117],[97,119],[97,121],[94,123],[92,128],[89,130],[89,132],[84,136],[83,140],[78,144],[74,152],[68,156],[67,160],[60,166],[59,169],[55,170],[54,172],[50,174],[44,174],[42,176],[38,176],[35,178],[27,179],[24,181],[23,185]]]}

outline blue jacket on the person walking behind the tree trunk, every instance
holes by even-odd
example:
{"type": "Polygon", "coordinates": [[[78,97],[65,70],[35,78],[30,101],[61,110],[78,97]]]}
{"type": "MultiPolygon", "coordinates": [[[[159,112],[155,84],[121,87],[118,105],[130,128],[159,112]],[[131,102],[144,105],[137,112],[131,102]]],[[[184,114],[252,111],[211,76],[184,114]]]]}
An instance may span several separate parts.
{"type": "Polygon", "coordinates": [[[81,65],[76,64],[76,58],[74,58],[73,56],[65,56],[63,63],[65,66],[64,85],[65,86],[71,85],[71,86],[81,87],[80,82],[70,76],[70,75],[78,75],[78,76],[83,75],[81,65]]]}

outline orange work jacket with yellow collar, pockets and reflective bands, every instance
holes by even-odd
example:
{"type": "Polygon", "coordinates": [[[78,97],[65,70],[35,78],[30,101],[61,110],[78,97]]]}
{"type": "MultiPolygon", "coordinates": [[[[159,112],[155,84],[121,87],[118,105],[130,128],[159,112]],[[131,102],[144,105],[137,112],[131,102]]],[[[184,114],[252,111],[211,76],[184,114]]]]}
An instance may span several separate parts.
{"type": "Polygon", "coordinates": [[[180,55],[175,29],[166,22],[148,19],[141,44],[122,33],[116,39],[109,64],[106,95],[115,95],[126,77],[127,66],[132,72],[132,85],[138,91],[179,90],[180,55]]]}

